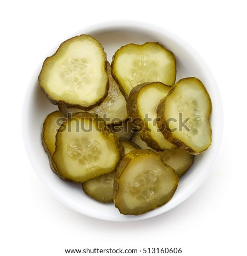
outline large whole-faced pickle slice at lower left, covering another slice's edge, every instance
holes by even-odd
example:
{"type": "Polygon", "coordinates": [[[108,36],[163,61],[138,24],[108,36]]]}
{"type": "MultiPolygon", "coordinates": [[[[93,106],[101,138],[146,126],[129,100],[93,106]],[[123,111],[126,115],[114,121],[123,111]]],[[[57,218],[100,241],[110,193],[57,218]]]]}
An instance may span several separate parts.
{"type": "Polygon", "coordinates": [[[123,147],[97,116],[75,113],[59,128],[52,160],[64,179],[83,183],[116,169],[123,147]]]}

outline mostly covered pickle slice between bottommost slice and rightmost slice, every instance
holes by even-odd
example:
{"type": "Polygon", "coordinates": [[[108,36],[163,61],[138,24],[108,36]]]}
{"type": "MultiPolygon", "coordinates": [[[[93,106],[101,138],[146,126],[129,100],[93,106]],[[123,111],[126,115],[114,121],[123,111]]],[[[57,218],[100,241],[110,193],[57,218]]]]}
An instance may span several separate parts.
{"type": "Polygon", "coordinates": [[[158,153],[165,164],[171,166],[178,177],[182,177],[194,163],[195,155],[190,154],[183,148],[159,151],[158,153]]]}

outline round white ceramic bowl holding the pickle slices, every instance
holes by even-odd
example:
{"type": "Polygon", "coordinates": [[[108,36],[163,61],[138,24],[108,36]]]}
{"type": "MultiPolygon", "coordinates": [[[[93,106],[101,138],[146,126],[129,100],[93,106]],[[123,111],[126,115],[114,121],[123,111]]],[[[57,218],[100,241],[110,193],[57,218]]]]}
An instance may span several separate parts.
{"type": "MultiPolygon", "coordinates": [[[[137,221],[164,214],[184,202],[201,186],[216,160],[221,144],[223,114],[215,79],[204,60],[192,47],[161,27],[137,23],[136,21],[111,21],[87,27],[76,34],[68,35],[68,38],[80,34],[89,34],[97,38],[102,43],[109,62],[111,62],[114,52],[127,43],[160,42],[167,49],[170,49],[177,60],[176,80],[182,77],[196,76],[204,83],[210,94],[212,101],[212,144],[206,152],[197,156],[192,168],[180,180],[177,191],[170,202],[143,215],[121,215],[114,204],[94,201],[82,192],[81,185],[64,182],[50,170],[47,154],[41,144],[41,130],[44,119],[50,112],[57,110],[57,106],[48,101],[38,86],[37,77],[41,70],[41,63],[32,76],[23,109],[24,142],[33,169],[53,196],[83,215],[108,221],[137,221]]],[[[58,42],[58,44],[60,43],[58,42]]],[[[52,49],[47,56],[52,55],[56,49],[52,49]]]]}

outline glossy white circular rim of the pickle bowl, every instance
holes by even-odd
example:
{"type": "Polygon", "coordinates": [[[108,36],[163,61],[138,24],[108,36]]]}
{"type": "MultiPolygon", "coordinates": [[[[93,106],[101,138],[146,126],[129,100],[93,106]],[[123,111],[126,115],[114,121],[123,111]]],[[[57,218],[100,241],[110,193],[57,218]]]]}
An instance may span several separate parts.
{"type": "MultiPolygon", "coordinates": [[[[55,198],[57,198],[58,201],[60,201],[61,203],[63,203],[67,207],[69,207],[70,209],[75,210],[75,212],[81,213],[85,216],[89,216],[94,219],[114,221],[114,222],[132,222],[132,221],[150,219],[155,216],[169,212],[169,210],[177,207],[179,204],[186,201],[203,184],[203,182],[206,180],[207,176],[210,174],[210,172],[216,162],[218,154],[220,152],[222,135],[223,135],[223,107],[222,107],[221,94],[218,89],[217,82],[216,82],[209,66],[207,66],[205,60],[201,57],[201,55],[197,51],[195,51],[195,49],[192,46],[190,46],[182,38],[173,34],[171,31],[168,31],[168,30],[164,29],[163,27],[159,27],[154,24],[145,23],[143,21],[136,21],[136,20],[109,20],[109,21],[104,21],[101,23],[91,24],[91,25],[82,27],[82,29],[81,29],[81,31],[83,31],[83,34],[89,34],[89,35],[93,34],[93,33],[95,34],[99,31],[106,32],[106,31],[118,31],[118,30],[122,30],[122,31],[123,30],[128,30],[128,31],[129,30],[133,30],[133,31],[138,30],[138,31],[142,31],[145,33],[150,32],[152,34],[155,34],[156,36],[165,35],[166,37],[171,38],[172,41],[176,41],[179,44],[183,44],[183,48],[187,52],[189,52],[189,54],[192,54],[193,57],[195,57],[200,62],[201,66],[203,66],[205,73],[207,74],[207,76],[209,76],[211,84],[215,85],[214,89],[213,89],[214,90],[214,114],[217,116],[217,127],[216,127],[216,130],[214,130],[213,132],[217,134],[217,137],[216,137],[216,142],[214,141],[214,145],[213,146],[211,145],[211,147],[213,147],[213,149],[211,149],[212,150],[211,155],[214,155],[214,157],[210,159],[209,170],[207,172],[204,172],[203,175],[200,176],[200,179],[198,179],[197,182],[192,187],[193,189],[190,189],[186,195],[184,195],[183,197],[180,197],[176,204],[172,204],[171,206],[167,207],[167,209],[165,211],[162,210],[161,208],[157,208],[154,211],[149,212],[148,214],[138,215],[138,216],[122,216],[122,215],[120,215],[120,218],[115,218],[115,219],[113,219],[109,216],[106,216],[104,214],[99,216],[96,213],[92,214],[92,212],[81,212],[80,210],[77,209],[77,205],[75,203],[73,203],[69,198],[61,197],[61,194],[59,193],[59,191],[55,190],[54,187],[50,186],[49,183],[47,183],[45,175],[42,175],[40,172],[37,171],[36,155],[35,155],[35,151],[33,151],[33,149],[32,149],[31,140],[29,140],[29,129],[27,129],[28,128],[27,124],[29,122],[29,116],[27,116],[26,113],[27,113],[27,110],[29,109],[29,103],[30,103],[30,100],[32,97],[32,91],[33,91],[33,87],[34,87],[33,81],[37,80],[37,74],[40,71],[40,68],[42,65],[39,65],[37,67],[37,70],[36,70],[37,72],[35,71],[35,73],[31,76],[29,86],[27,86],[25,97],[24,97],[24,102],[23,102],[22,124],[21,125],[22,125],[23,141],[24,141],[24,145],[25,145],[25,149],[26,149],[26,154],[30,160],[32,168],[35,170],[37,176],[43,183],[44,187],[46,187],[46,189],[55,198]]],[[[76,35],[76,33],[73,33],[72,35],[69,35],[68,38],[75,36],[75,35],[76,35]]],[[[210,95],[210,97],[211,97],[211,95],[210,95]]]]}

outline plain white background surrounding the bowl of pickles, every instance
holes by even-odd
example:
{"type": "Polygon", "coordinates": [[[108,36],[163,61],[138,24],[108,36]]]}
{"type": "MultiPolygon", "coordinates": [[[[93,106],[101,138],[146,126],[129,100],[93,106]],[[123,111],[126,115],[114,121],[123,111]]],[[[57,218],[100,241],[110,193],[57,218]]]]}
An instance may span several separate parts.
{"type": "Polygon", "coordinates": [[[65,248],[181,247],[181,255],[246,255],[246,8],[244,1],[5,1],[1,24],[1,255],[65,255],[65,248]],[[21,112],[47,52],[83,27],[145,21],[205,59],[222,95],[224,134],[209,177],[153,219],[115,223],[73,212],[47,192],[26,156],[21,112]],[[48,251],[49,250],[49,251],[48,251]]]}

